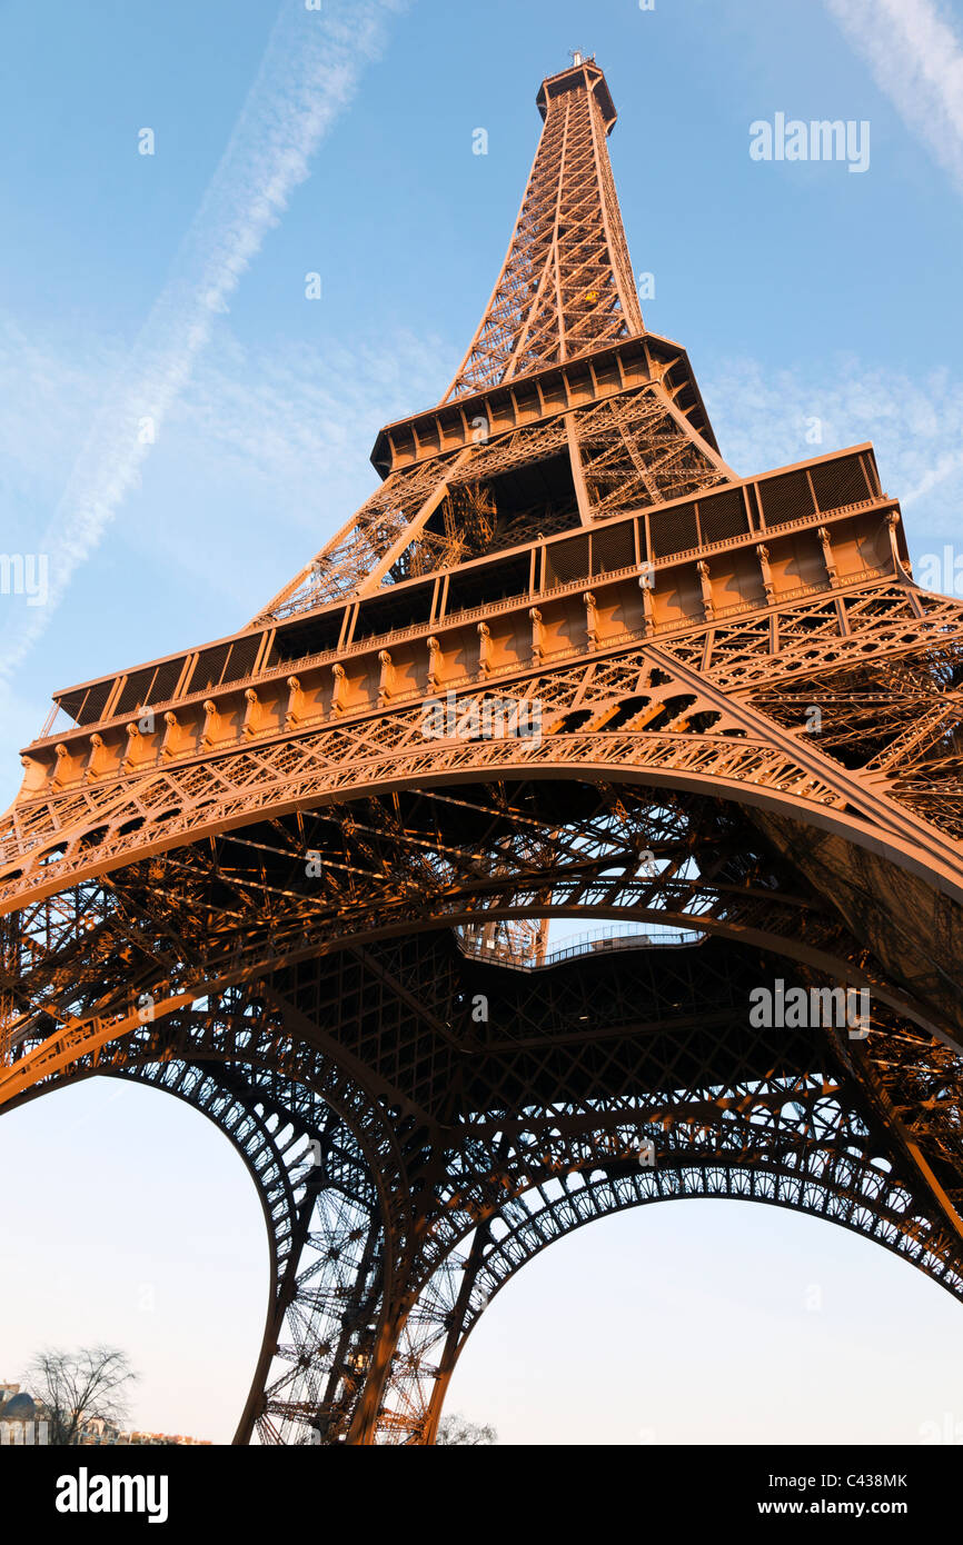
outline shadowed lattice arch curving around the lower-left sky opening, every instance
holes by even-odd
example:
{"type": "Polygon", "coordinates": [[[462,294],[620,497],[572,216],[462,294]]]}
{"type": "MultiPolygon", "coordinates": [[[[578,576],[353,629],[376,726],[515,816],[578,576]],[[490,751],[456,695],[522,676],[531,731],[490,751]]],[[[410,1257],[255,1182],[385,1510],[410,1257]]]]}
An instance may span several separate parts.
{"type": "Polygon", "coordinates": [[[410,1233],[403,1123],[390,1129],[379,1100],[323,1057],[292,1057],[286,1077],[277,1026],[258,1027],[260,1000],[233,1010],[229,1046],[215,1015],[184,1014],[167,1023],[162,1048],[145,1027],[134,1044],[114,1043],[17,1103],[104,1074],[172,1094],[213,1122],[255,1185],[271,1262],[235,1443],[250,1441],[255,1426],[266,1443],[340,1441],[357,1418],[394,1251],[410,1233]]]}

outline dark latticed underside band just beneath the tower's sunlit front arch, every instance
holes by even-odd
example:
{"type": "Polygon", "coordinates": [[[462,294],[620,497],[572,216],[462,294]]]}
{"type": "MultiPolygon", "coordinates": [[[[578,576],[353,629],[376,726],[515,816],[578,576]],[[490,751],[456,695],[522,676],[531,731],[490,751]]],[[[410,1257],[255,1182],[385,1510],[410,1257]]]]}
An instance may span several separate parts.
{"type": "Polygon", "coordinates": [[[159,1017],[346,941],[580,915],[754,939],[963,1034],[963,915],[880,845],[691,789],[524,779],[295,811],[25,907],[3,1097],[136,1024],[138,993],[159,1017]]]}

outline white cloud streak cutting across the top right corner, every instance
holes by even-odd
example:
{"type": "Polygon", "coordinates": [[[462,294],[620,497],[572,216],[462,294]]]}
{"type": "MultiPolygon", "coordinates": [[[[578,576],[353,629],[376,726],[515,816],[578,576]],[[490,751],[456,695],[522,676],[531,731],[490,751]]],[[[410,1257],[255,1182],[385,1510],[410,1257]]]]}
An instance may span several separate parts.
{"type": "Polygon", "coordinates": [[[825,0],[876,85],[963,193],[963,42],[937,0],[825,0]]]}

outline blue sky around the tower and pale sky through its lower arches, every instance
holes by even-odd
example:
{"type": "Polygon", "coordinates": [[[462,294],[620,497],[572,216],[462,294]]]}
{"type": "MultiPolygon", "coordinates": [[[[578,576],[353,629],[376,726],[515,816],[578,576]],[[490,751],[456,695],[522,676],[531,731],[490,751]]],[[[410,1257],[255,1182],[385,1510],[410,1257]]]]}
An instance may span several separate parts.
{"type": "MultiPolygon", "coordinates": [[[[646,323],[686,345],[730,464],[872,439],[917,562],[960,552],[955,6],[6,0],[0,548],[49,553],[51,601],[0,595],[0,794],[54,689],[232,632],[371,491],[377,430],[436,402],[471,337],[535,93],[577,46],[620,113],[646,323]],[[753,161],[750,125],[776,113],[867,121],[869,170],[753,161]],[[148,445],[131,434],[145,413],[148,445]]],[[[216,1132],[91,1083],[0,1123],[0,1378],[40,1340],[119,1340],[144,1369],[138,1421],[229,1437],[266,1248],[216,1132]]],[[[776,1420],[810,1441],[914,1441],[960,1404],[955,1313],[830,1225],[652,1208],[530,1265],[451,1398],[532,1441],[753,1441],[776,1420]]]]}

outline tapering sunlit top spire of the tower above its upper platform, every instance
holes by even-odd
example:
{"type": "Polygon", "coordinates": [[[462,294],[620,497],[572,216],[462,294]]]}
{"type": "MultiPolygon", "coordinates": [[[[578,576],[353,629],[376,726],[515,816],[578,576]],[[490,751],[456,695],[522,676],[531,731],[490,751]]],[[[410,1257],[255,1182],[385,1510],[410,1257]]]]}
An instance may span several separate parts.
{"type": "Polygon", "coordinates": [[[580,49],[543,80],[544,128],[501,273],[444,402],[643,331],[606,138],[615,107],[580,49]]]}

